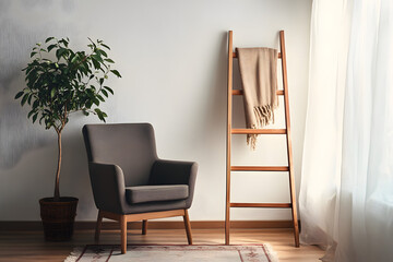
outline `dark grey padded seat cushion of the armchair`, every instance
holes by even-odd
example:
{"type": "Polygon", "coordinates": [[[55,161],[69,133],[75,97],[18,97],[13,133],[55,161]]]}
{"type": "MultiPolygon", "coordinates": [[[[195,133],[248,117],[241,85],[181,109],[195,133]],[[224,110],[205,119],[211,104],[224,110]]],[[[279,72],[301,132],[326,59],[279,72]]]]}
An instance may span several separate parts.
{"type": "Polygon", "coordinates": [[[126,188],[126,198],[129,204],[186,200],[188,196],[188,184],[138,186],[126,188]]]}

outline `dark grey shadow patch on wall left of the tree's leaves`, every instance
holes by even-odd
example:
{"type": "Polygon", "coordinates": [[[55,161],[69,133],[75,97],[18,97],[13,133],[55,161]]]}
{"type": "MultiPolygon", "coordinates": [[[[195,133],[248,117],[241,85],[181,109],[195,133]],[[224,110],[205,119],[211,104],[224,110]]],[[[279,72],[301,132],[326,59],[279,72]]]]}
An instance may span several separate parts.
{"type": "Polygon", "coordinates": [[[21,71],[34,36],[10,20],[1,23],[0,38],[0,168],[11,168],[26,150],[43,146],[41,130],[27,120],[27,111],[13,97],[24,86],[21,71]]]}

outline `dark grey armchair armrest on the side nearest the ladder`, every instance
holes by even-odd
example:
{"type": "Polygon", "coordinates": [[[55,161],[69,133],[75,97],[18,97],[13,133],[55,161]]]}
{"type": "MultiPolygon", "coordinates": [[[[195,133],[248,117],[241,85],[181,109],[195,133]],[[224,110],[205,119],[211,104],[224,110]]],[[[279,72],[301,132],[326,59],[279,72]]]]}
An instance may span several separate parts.
{"type": "Polygon", "coordinates": [[[187,209],[191,206],[195,187],[198,164],[195,162],[163,160],[153,164],[150,184],[188,184],[187,209]]]}

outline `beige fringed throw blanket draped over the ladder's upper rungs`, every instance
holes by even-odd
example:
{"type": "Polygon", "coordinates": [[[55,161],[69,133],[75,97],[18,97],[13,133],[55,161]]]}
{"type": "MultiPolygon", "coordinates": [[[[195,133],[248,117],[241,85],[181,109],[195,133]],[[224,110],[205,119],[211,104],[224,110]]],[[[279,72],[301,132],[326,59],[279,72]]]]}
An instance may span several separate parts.
{"type": "MultiPolygon", "coordinates": [[[[260,129],[274,122],[277,103],[277,50],[238,48],[243,87],[246,128],[260,129]]],[[[258,134],[248,134],[247,144],[255,150],[258,134]]]]}

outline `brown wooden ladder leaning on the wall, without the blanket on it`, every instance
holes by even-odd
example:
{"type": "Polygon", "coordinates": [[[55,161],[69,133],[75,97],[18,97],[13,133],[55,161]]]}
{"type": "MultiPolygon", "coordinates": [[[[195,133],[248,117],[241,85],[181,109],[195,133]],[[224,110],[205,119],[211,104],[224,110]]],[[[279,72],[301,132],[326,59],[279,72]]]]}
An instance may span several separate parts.
{"type": "Polygon", "coordinates": [[[234,52],[233,32],[228,33],[228,104],[227,104],[227,146],[226,146],[226,210],[225,210],[225,245],[229,245],[230,231],[230,207],[269,207],[269,209],[291,209],[294,223],[295,246],[299,247],[299,227],[297,218],[296,191],[294,178],[294,164],[290,140],[290,120],[288,102],[288,81],[286,69],[286,53],[284,31],[279,32],[281,52],[278,58],[282,60],[283,90],[277,91],[277,95],[284,96],[285,109],[285,129],[234,129],[233,118],[233,95],[242,95],[241,90],[233,90],[233,63],[237,58],[237,51],[234,52]],[[286,134],[288,166],[231,166],[230,165],[230,141],[233,134],[286,134]],[[288,171],[290,203],[233,203],[230,202],[230,175],[231,171],[288,171]]]}

